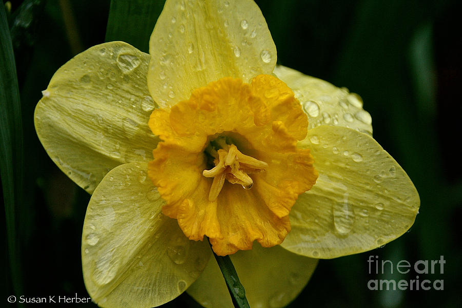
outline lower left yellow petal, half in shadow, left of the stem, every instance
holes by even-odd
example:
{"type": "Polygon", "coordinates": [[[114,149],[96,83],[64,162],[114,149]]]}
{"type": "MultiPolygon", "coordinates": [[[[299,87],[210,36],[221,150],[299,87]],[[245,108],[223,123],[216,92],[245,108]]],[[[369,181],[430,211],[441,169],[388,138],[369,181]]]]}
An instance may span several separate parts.
{"type": "Polygon", "coordinates": [[[83,226],[85,285],[102,307],[151,307],[194,282],[210,256],[188,240],[146,177],[146,164],[112,169],[95,189],[83,226]]]}

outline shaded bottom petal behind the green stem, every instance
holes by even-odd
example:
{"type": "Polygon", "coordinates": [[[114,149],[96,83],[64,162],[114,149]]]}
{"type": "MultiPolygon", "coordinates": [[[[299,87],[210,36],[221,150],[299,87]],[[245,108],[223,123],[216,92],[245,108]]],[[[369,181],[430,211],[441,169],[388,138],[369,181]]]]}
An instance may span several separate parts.
{"type": "MultiPolygon", "coordinates": [[[[251,307],[277,308],[290,303],[310,279],[317,259],[286,251],[280,246],[239,251],[230,256],[251,307]]],[[[214,258],[187,290],[205,307],[233,307],[223,275],[214,258]],[[213,287],[210,287],[213,286],[213,287]]]]}

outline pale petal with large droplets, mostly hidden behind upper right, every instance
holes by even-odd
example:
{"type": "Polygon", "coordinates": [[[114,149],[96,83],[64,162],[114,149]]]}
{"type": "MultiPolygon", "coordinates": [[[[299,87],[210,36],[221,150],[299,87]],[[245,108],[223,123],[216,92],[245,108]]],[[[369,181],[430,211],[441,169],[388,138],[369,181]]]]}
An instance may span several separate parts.
{"type": "Polygon", "coordinates": [[[308,115],[308,128],[343,126],[372,136],[372,118],[358,94],[285,66],[277,66],[274,73],[294,91],[308,115]]]}

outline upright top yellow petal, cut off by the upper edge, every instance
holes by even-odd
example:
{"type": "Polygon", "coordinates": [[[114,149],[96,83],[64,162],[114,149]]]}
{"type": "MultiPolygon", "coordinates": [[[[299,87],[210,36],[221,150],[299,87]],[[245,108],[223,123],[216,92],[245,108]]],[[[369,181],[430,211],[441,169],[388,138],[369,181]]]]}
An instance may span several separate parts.
{"type": "Polygon", "coordinates": [[[276,47],[251,0],[167,0],[149,41],[148,87],[161,106],[227,76],[272,73],[276,47]]]}

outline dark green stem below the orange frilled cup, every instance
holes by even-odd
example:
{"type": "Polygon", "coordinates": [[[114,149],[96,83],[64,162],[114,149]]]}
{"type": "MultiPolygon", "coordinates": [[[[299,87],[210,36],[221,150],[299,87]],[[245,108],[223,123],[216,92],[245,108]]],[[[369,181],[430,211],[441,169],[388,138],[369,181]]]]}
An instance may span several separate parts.
{"type": "Polygon", "coordinates": [[[218,266],[226,281],[226,286],[228,287],[229,295],[233,300],[234,306],[236,308],[250,308],[247,298],[245,297],[244,286],[239,281],[231,258],[229,258],[229,256],[217,256],[213,250],[212,252],[214,253],[215,260],[217,260],[218,266]]]}

